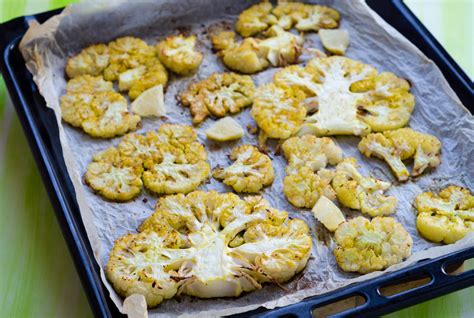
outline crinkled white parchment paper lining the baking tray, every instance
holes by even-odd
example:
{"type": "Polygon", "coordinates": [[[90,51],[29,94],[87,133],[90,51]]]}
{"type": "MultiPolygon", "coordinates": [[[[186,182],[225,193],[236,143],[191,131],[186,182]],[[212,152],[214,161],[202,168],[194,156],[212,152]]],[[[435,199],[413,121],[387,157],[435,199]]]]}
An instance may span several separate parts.
{"type": "MultiPolygon", "coordinates": [[[[21,42],[21,50],[34,80],[44,96],[47,106],[55,111],[60,131],[60,140],[68,173],[73,181],[81,216],[95,257],[103,268],[113,242],[118,237],[136,231],[138,225],[147,218],[154,208],[156,197],[145,191],[129,203],[111,203],[93,194],[83,184],[82,176],[95,152],[116,145],[120,138],[112,140],[93,139],[83,132],[61,122],[59,97],[65,92],[64,66],[67,57],[76,54],[87,45],[108,42],[119,36],[134,35],[149,43],[179,28],[183,32],[197,34],[199,49],[204,53],[204,62],[199,72],[187,78],[171,77],[166,89],[165,102],[169,109],[168,118],[143,119],[140,132],[157,129],[163,122],[191,124],[189,110],[177,103],[175,95],[191,82],[204,79],[225,67],[212,54],[208,39],[208,28],[223,21],[233,22],[236,15],[255,1],[219,0],[162,0],[154,2],[120,1],[113,4],[83,3],[67,7],[62,14],[42,25],[33,23],[21,42]],[[144,200],[147,198],[148,200],[144,200]]],[[[350,48],[346,55],[376,66],[379,71],[391,71],[407,78],[413,84],[416,107],[410,127],[438,136],[442,143],[442,164],[431,173],[415,181],[397,184],[389,194],[398,198],[398,209],[394,215],[408,230],[414,240],[413,255],[402,264],[392,266],[387,271],[406,267],[418,260],[434,258],[474,244],[470,235],[456,244],[438,246],[422,239],[415,228],[414,197],[427,190],[437,191],[449,184],[474,188],[474,119],[461,104],[435,64],[427,59],[414,45],[396,30],[386,24],[363,1],[318,1],[330,5],[341,12],[341,28],[348,30],[350,48]]],[[[305,47],[321,49],[320,41],[314,33],[305,37],[305,47]]],[[[303,60],[305,58],[303,57],[303,60]]],[[[253,76],[257,85],[271,81],[275,69],[253,76]]],[[[255,125],[249,110],[235,116],[245,127],[255,125]]],[[[213,123],[208,119],[199,127],[199,139],[209,151],[209,161],[216,165],[229,164],[227,154],[236,144],[256,144],[256,137],[246,133],[238,142],[215,144],[208,142],[204,130],[213,123]]],[[[354,156],[362,164],[364,173],[372,173],[378,178],[395,181],[388,166],[380,160],[362,157],[357,150],[357,137],[337,137],[345,156],[354,156]]],[[[274,149],[273,149],[274,150],[274,149]]],[[[306,269],[283,290],[274,285],[247,293],[232,299],[196,299],[182,296],[163,302],[151,310],[151,317],[170,316],[216,316],[248,311],[259,306],[274,308],[296,303],[305,297],[325,293],[336,288],[379,276],[383,272],[356,275],[342,272],[332,255],[334,242],[329,233],[318,224],[308,210],[292,207],[282,195],[282,179],[286,162],[282,156],[270,151],[276,170],[275,182],[264,191],[270,203],[286,209],[293,217],[306,220],[313,231],[314,248],[306,269]]],[[[211,182],[201,189],[230,191],[220,182],[211,182]]],[[[344,210],[349,218],[358,213],[344,210]]],[[[110,291],[115,304],[122,310],[122,299],[111,288],[101,270],[102,279],[110,291]]]]}

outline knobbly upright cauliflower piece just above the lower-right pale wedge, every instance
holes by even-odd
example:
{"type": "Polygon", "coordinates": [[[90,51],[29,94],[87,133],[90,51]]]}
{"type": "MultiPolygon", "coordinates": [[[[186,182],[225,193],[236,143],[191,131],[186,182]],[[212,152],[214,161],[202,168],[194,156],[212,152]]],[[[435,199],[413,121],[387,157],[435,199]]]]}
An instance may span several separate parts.
{"type": "Polygon", "coordinates": [[[283,193],[296,207],[312,208],[321,196],[334,200],[334,171],[324,169],[342,160],[342,150],[330,138],[312,135],[291,137],[282,144],[288,160],[283,193]]]}

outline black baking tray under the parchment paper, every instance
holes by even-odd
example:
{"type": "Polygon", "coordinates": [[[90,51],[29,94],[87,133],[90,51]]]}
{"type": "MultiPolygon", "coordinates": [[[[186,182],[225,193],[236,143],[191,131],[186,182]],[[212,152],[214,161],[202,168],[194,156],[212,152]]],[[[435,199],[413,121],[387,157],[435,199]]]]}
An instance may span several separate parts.
{"type": "MultiPolygon", "coordinates": [[[[368,4],[389,24],[401,32],[441,69],[463,104],[473,112],[473,83],[436,39],[426,30],[401,0],[368,0],[368,4]]],[[[99,275],[84,225],[81,221],[74,188],[67,174],[58,137],[56,119],[45,106],[43,97],[25,67],[18,44],[31,20],[42,23],[60,10],[20,17],[0,24],[0,69],[10,97],[23,125],[43,182],[53,204],[62,233],[74,259],[76,269],[97,317],[121,316],[108,296],[99,275]]],[[[378,316],[393,312],[434,297],[474,285],[474,270],[450,275],[450,269],[474,258],[474,247],[436,259],[422,260],[408,268],[352,284],[323,295],[310,297],[300,303],[274,310],[259,308],[239,317],[311,317],[320,306],[361,296],[363,305],[336,316],[378,316]],[[423,286],[385,297],[380,289],[420,277],[431,281],[423,286]]]]}

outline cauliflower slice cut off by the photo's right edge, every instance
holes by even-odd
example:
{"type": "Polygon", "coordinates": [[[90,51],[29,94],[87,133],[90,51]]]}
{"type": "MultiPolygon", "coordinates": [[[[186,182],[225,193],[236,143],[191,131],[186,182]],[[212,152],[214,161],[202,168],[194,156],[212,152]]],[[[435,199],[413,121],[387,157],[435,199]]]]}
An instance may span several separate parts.
{"type": "Polygon", "coordinates": [[[439,195],[421,193],[415,208],[416,227],[430,241],[451,244],[474,232],[474,196],[468,189],[449,186],[439,195]]]}

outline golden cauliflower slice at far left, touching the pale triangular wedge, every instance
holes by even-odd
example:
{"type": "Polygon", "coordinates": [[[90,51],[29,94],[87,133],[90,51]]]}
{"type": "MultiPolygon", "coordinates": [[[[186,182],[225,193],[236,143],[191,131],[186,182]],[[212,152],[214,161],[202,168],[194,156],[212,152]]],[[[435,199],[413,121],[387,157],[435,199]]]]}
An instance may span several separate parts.
{"type": "Polygon", "coordinates": [[[61,97],[61,116],[74,127],[98,138],[112,138],[137,129],[140,117],[130,113],[127,100],[102,77],[71,79],[61,97]]]}

